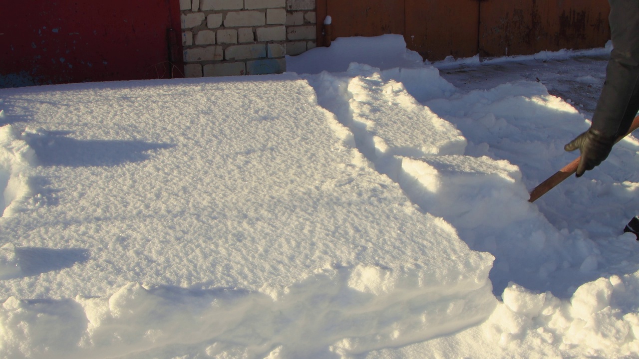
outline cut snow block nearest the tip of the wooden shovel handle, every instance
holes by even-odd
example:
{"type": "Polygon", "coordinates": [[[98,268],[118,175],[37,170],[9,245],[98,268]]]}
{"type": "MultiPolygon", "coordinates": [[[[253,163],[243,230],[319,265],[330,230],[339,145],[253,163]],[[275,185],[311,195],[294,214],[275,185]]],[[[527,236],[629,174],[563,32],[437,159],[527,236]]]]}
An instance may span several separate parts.
{"type": "Polygon", "coordinates": [[[403,188],[429,213],[463,229],[502,228],[527,218],[528,192],[521,172],[488,157],[402,158],[403,188]]]}

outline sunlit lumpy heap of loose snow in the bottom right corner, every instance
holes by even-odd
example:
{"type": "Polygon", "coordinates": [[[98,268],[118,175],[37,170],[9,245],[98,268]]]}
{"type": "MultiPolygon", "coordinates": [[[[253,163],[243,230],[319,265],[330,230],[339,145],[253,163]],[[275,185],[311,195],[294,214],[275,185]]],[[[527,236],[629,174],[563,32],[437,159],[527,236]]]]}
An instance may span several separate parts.
{"type": "Polygon", "coordinates": [[[569,300],[511,283],[481,325],[450,337],[369,353],[367,359],[634,357],[639,348],[638,273],[583,284],[569,300]]]}

